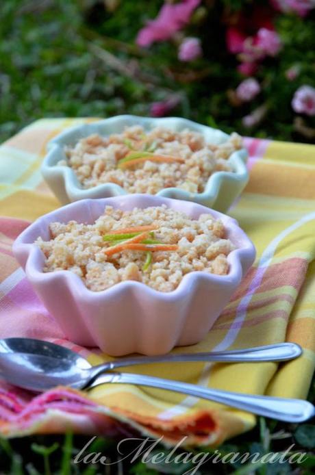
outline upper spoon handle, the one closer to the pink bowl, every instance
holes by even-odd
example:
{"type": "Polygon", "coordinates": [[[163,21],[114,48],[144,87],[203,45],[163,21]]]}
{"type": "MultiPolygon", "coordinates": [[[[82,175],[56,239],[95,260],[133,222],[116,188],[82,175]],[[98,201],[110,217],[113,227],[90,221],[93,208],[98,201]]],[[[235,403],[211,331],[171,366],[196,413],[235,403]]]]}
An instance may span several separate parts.
{"type": "Polygon", "coordinates": [[[217,361],[217,362],[257,362],[257,361],[285,361],[301,355],[301,346],[295,343],[278,343],[274,345],[256,346],[244,350],[213,351],[203,353],[168,353],[168,355],[153,357],[122,358],[93,367],[93,376],[102,371],[114,370],[131,365],[147,363],[163,363],[180,361],[217,361]]]}

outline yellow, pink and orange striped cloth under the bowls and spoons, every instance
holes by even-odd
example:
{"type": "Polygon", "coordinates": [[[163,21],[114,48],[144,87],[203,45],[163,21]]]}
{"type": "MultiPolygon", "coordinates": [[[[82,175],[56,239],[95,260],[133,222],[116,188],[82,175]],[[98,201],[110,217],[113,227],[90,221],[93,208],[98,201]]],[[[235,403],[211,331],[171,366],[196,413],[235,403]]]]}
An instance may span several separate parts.
{"type": "MultiPolygon", "coordinates": [[[[45,146],[65,127],[95,119],[45,119],[0,146],[0,337],[47,339],[96,364],[95,348],[64,339],[12,257],[11,245],[30,221],[60,204],[40,175],[45,146]]],[[[305,398],[315,352],[314,147],[246,139],[250,181],[230,211],[257,248],[257,259],[203,342],[175,351],[245,348],[297,342],[303,357],[288,363],[164,363],[137,372],[240,391],[305,398]]],[[[132,371],[134,368],[126,368],[132,371]]],[[[140,431],[176,444],[218,445],[255,425],[249,413],[170,391],[102,385],[88,393],[58,387],[40,396],[0,383],[0,434],[117,435],[140,431]]]]}

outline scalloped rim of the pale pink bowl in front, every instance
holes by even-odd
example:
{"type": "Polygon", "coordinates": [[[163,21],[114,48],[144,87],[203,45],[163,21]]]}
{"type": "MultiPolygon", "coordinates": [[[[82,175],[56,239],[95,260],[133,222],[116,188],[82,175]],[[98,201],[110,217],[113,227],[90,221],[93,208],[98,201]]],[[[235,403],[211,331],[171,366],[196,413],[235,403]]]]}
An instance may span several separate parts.
{"type": "MultiPolygon", "coordinates": [[[[124,205],[122,203],[116,206],[119,209],[124,209],[124,205]]],[[[95,199],[86,199],[81,201],[75,201],[74,203],[70,203],[65,205],[61,208],[58,208],[54,211],[51,211],[48,214],[45,214],[38,218],[34,223],[30,224],[25,231],[23,231],[18,238],[14,241],[13,244],[13,252],[14,255],[19,253],[19,251],[27,251],[27,259],[25,262],[25,273],[27,277],[30,278],[32,283],[39,283],[40,281],[47,281],[53,285],[54,279],[64,279],[66,284],[71,289],[76,289],[79,292],[80,298],[85,299],[94,299],[94,300],[102,300],[103,298],[119,298],[120,294],[125,292],[125,290],[131,288],[134,290],[141,290],[142,292],[146,292],[152,298],[162,298],[163,300],[179,300],[180,298],[184,298],[187,295],[187,292],[192,290],[192,287],[197,285],[201,279],[206,279],[209,282],[216,283],[216,285],[227,285],[228,287],[234,287],[240,283],[242,280],[242,266],[241,261],[242,257],[244,256],[255,256],[255,247],[253,243],[248,238],[246,233],[242,231],[242,229],[238,226],[238,222],[234,220],[234,218],[230,218],[229,216],[220,213],[219,211],[215,211],[214,209],[207,208],[203,205],[199,205],[194,202],[190,201],[179,201],[173,198],[165,198],[160,196],[154,195],[146,195],[146,194],[133,194],[128,196],[114,196],[109,198],[95,198],[95,199]],[[93,205],[95,202],[104,202],[105,205],[112,205],[115,204],[114,201],[118,201],[121,199],[128,199],[128,202],[131,201],[142,201],[142,204],[139,205],[139,202],[134,205],[135,207],[151,207],[151,206],[159,206],[162,204],[166,204],[166,206],[171,207],[172,209],[179,209],[178,203],[181,203],[181,210],[186,212],[188,216],[194,213],[194,209],[197,209],[197,212],[200,209],[199,214],[207,213],[212,214],[214,218],[223,218],[223,224],[225,228],[231,233],[237,231],[237,235],[242,240],[244,245],[240,248],[236,248],[234,251],[231,251],[227,256],[227,261],[229,263],[229,273],[226,275],[217,275],[217,274],[210,274],[203,271],[192,271],[186,274],[181,282],[179,283],[178,287],[171,291],[171,292],[162,292],[149,287],[144,283],[136,282],[136,281],[124,281],[112,285],[112,287],[108,287],[108,289],[102,290],[100,292],[93,292],[92,290],[88,289],[84,282],[71,272],[70,270],[57,270],[53,272],[43,272],[42,265],[44,262],[43,253],[34,244],[34,238],[32,238],[32,242],[29,242],[29,235],[31,235],[34,231],[38,230],[37,237],[41,235],[40,228],[42,227],[42,223],[45,223],[45,228],[47,229],[49,222],[53,220],[62,220],[62,214],[64,213],[65,209],[71,209],[71,207],[79,207],[84,206],[85,204],[90,203],[93,205]],[[175,204],[177,203],[177,205],[175,204]],[[175,206],[175,208],[173,206],[175,206]],[[186,208],[186,210],[184,209],[186,208]],[[187,208],[190,208],[187,210],[187,208]],[[51,219],[53,218],[53,219],[51,219]],[[42,261],[42,262],[40,262],[42,261]]]]}

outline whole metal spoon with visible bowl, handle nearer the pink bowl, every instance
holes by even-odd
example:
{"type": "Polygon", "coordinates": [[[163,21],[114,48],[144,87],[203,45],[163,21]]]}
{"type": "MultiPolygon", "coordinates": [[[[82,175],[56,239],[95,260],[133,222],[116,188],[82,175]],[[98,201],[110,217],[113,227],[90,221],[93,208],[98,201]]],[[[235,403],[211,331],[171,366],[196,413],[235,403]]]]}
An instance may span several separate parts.
{"type": "Polygon", "coordinates": [[[168,354],[156,357],[122,358],[92,366],[78,353],[40,339],[0,339],[0,376],[13,385],[45,391],[57,385],[81,389],[99,374],[123,366],[165,361],[284,361],[301,355],[294,343],[257,346],[244,350],[168,354]]]}

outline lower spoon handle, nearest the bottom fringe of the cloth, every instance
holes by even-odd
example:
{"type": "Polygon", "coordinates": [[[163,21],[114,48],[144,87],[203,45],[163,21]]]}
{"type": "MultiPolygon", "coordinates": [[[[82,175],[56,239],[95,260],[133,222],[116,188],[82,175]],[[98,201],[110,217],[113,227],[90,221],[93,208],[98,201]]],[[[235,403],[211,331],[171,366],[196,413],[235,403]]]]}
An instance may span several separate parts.
{"type": "Polygon", "coordinates": [[[218,389],[209,389],[189,383],[131,373],[106,373],[92,381],[88,389],[105,383],[124,383],[139,386],[158,387],[197,398],[207,399],[235,407],[257,415],[264,415],[285,422],[303,422],[315,415],[314,406],[301,399],[272,398],[270,396],[251,396],[218,389]]]}

